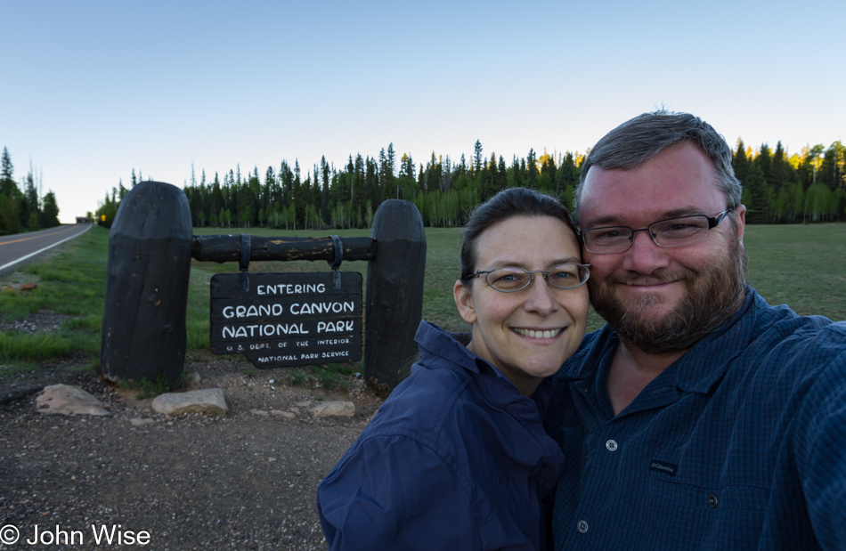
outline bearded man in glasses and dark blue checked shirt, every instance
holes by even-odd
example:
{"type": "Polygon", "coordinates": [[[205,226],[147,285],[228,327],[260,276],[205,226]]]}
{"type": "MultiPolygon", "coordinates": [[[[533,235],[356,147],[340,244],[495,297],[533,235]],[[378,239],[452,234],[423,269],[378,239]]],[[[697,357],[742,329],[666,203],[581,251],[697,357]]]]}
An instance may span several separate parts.
{"type": "Polygon", "coordinates": [[[846,323],[746,286],[740,197],[728,144],[692,115],[633,118],[585,160],[576,216],[607,325],[545,418],[566,458],[557,549],[846,549],[846,323]]]}

